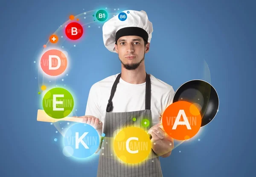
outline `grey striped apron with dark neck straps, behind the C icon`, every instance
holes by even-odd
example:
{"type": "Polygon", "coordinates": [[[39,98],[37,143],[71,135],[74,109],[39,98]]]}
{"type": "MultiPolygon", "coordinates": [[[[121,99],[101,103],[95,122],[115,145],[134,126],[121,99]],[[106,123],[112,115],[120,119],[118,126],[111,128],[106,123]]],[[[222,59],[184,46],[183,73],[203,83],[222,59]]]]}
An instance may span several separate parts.
{"type": "Polygon", "coordinates": [[[159,157],[157,157],[152,149],[148,160],[144,160],[137,164],[123,163],[114,153],[113,137],[117,130],[136,126],[147,132],[152,126],[152,115],[150,110],[151,83],[148,74],[146,74],[145,110],[134,112],[111,112],[113,109],[112,98],[120,77],[121,73],[116,77],[111,89],[111,96],[108,100],[103,132],[105,133],[105,138],[104,141],[102,141],[102,148],[99,154],[97,177],[163,177],[159,157]],[[133,118],[136,118],[137,120],[133,121],[133,118]],[[150,125],[148,127],[141,127],[141,121],[145,118],[149,120],[150,125]]]}

